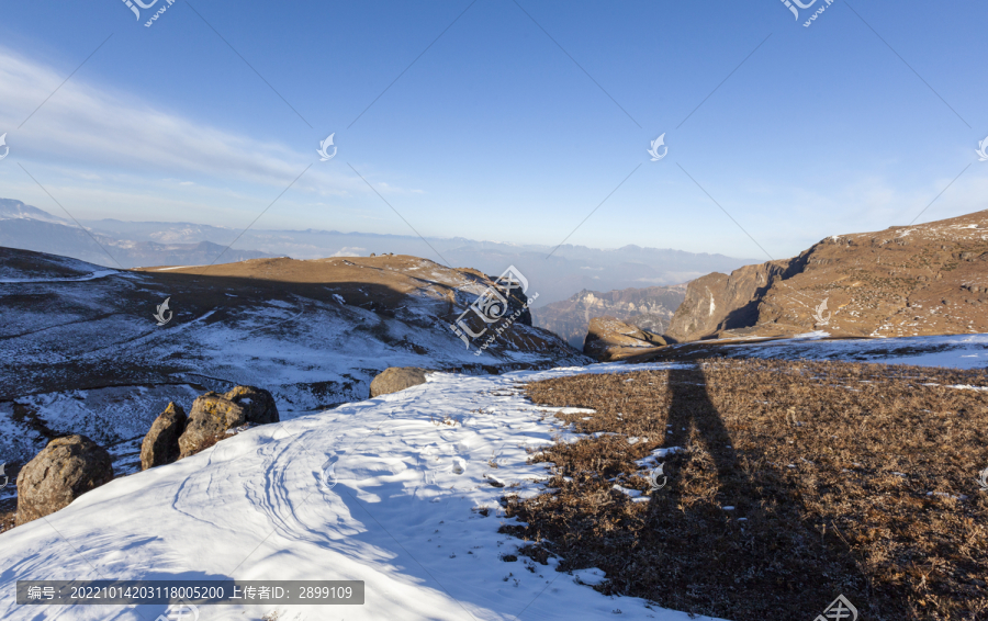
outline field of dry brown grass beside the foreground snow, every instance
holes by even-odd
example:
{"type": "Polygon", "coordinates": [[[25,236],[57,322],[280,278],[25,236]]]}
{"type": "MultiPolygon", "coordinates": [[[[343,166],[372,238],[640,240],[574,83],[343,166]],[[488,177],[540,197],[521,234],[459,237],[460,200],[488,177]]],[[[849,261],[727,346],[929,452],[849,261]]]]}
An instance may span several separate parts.
{"type": "Polygon", "coordinates": [[[528,526],[504,530],[600,567],[605,594],[733,621],[813,619],[840,594],[864,620],[985,620],[988,393],[953,384],[988,373],[707,360],[534,383],[538,404],[596,409],[559,415],[574,431],[617,436],[534,456],[558,492],[507,495],[528,526]],[[613,489],[647,493],[635,460],[673,445],[647,503],[613,489]]]}

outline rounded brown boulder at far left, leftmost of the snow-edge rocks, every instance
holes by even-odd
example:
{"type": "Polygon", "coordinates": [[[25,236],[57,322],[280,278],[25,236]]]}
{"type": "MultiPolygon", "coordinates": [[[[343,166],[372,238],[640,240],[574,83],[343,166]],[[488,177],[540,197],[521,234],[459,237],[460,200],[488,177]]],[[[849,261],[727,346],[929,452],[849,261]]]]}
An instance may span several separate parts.
{"type": "Polygon", "coordinates": [[[52,515],[112,478],[105,449],[86,436],[56,438],[18,475],[16,526],[52,515]]]}

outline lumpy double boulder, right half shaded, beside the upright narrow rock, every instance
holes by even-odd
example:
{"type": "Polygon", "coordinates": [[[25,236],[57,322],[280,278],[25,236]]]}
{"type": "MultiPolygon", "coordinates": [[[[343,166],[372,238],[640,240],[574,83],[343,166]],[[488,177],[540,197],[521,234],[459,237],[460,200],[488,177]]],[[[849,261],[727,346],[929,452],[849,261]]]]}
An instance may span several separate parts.
{"type": "Polygon", "coordinates": [[[179,438],[179,459],[215,444],[228,429],[279,420],[274,397],[263,388],[236,386],[225,395],[209,392],[192,403],[189,421],[179,438]]]}

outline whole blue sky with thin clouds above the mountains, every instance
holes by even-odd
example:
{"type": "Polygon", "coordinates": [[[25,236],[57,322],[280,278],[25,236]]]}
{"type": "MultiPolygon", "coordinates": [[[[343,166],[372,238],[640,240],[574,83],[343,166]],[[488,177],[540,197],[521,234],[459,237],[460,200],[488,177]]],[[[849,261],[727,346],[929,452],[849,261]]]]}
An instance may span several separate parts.
{"type": "Polygon", "coordinates": [[[145,27],[166,1],[3,4],[0,196],[555,245],[609,195],[570,244],[776,259],[988,207],[984,2],[178,0],[145,27]]]}

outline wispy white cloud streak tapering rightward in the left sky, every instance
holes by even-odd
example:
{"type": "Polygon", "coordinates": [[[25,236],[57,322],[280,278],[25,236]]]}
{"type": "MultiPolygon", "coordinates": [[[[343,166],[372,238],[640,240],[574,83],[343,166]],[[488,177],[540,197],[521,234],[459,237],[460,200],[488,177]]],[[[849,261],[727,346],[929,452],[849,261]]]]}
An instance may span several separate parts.
{"type": "MultiPolygon", "coordinates": [[[[314,146],[304,150],[222,131],[79,76],[15,129],[63,80],[53,67],[0,46],[0,132],[10,133],[8,143],[16,156],[87,173],[108,168],[155,179],[206,176],[217,183],[273,187],[283,187],[316,159],[314,146]]],[[[383,191],[414,191],[380,184],[383,191]]],[[[361,179],[339,167],[314,168],[301,189],[324,195],[368,193],[361,179]]]]}

